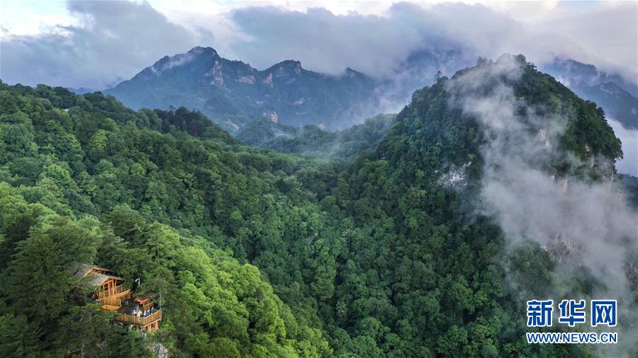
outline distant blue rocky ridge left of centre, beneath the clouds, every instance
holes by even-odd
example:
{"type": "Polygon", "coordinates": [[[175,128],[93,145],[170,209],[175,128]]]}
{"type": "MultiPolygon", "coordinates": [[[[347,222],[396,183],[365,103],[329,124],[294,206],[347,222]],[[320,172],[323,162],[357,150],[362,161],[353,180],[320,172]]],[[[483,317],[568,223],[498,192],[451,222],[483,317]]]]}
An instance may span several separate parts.
{"type": "Polygon", "coordinates": [[[224,59],[211,47],[164,57],[104,93],[131,108],[184,106],[201,110],[230,132],[259,117],[285,125],[345,128],[376,108],[377,83],[352,69],[341,76],[284,61],[259,71],[224,59]]]}

